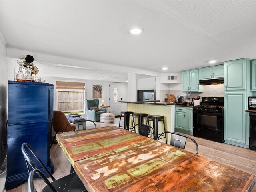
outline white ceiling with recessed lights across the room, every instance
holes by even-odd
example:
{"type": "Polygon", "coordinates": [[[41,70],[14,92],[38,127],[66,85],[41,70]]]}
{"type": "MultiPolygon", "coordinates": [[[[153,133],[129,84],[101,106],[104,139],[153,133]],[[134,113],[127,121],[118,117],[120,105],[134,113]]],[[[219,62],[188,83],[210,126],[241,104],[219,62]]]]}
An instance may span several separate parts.
{"type": "Polygon", "coordinates": [[[0,30],[8,48],[114,65],[108,76],[121,66],[179,72],[256,58],[256,1],[1,0],[0,30]]]}

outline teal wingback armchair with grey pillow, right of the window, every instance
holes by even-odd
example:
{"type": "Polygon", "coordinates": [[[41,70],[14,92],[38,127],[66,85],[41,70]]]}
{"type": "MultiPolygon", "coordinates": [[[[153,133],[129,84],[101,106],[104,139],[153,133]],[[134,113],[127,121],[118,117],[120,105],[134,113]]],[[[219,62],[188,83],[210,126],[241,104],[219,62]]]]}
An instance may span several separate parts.
{"type": "Polygon", "coordinates": [[[86,110],[87,119],[91,120],[91,121],[95,121],[95,122],[100,121],[100,114],[107,112],[106,108],[99,109],[99,100],[98,99],[92,99],[92,100],[86,99],[85,100],[85,110],[86,110]],[[95,109],[92,109],[92,108],[95,108],[95,109]]]}

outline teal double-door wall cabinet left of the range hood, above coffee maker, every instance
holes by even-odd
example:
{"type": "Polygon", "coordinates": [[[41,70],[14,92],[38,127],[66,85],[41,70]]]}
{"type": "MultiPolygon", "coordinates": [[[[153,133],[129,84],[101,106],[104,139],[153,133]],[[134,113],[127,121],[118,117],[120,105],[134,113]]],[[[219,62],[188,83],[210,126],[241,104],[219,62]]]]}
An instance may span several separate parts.
{"type": "Polygon", "coordinates": [[[182,91],[183,92],[202,92],[199,86],[198,69],[182,71],[182,91]]]}

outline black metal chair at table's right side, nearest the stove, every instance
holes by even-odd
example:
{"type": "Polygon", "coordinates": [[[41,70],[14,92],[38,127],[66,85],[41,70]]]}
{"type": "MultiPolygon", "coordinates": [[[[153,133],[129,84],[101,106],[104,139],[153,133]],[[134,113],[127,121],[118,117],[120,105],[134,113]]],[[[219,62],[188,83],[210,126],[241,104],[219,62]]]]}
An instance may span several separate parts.
{"type": "Polygon", "coordinates": [[[164,132],[160,133],[157,140],[159,140],[159,138],[162,134],[166,134],[166,133],[171,134],[170,145],[178,147],[178,148],[185,149],[187,138],[192,140],[194,142],[194,144],[196,145],[196,154],[198,154],[198,144],[196,143],[196,141],[193,138],[191,138],[189,136],[186,136],[186,135],[183,135],[183,134],[180,134],[180,133],[164,131],[164,132]]]}

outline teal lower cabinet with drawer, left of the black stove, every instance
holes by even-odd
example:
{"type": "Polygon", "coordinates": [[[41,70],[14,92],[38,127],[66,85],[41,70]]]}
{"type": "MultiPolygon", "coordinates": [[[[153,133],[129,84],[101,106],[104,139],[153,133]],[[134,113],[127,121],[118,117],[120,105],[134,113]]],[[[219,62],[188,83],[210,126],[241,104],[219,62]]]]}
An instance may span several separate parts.
{"type": "Polygon", "coordinates": [[[192,107],[175,107],[175,131],[193,135],[192,107]]]}

